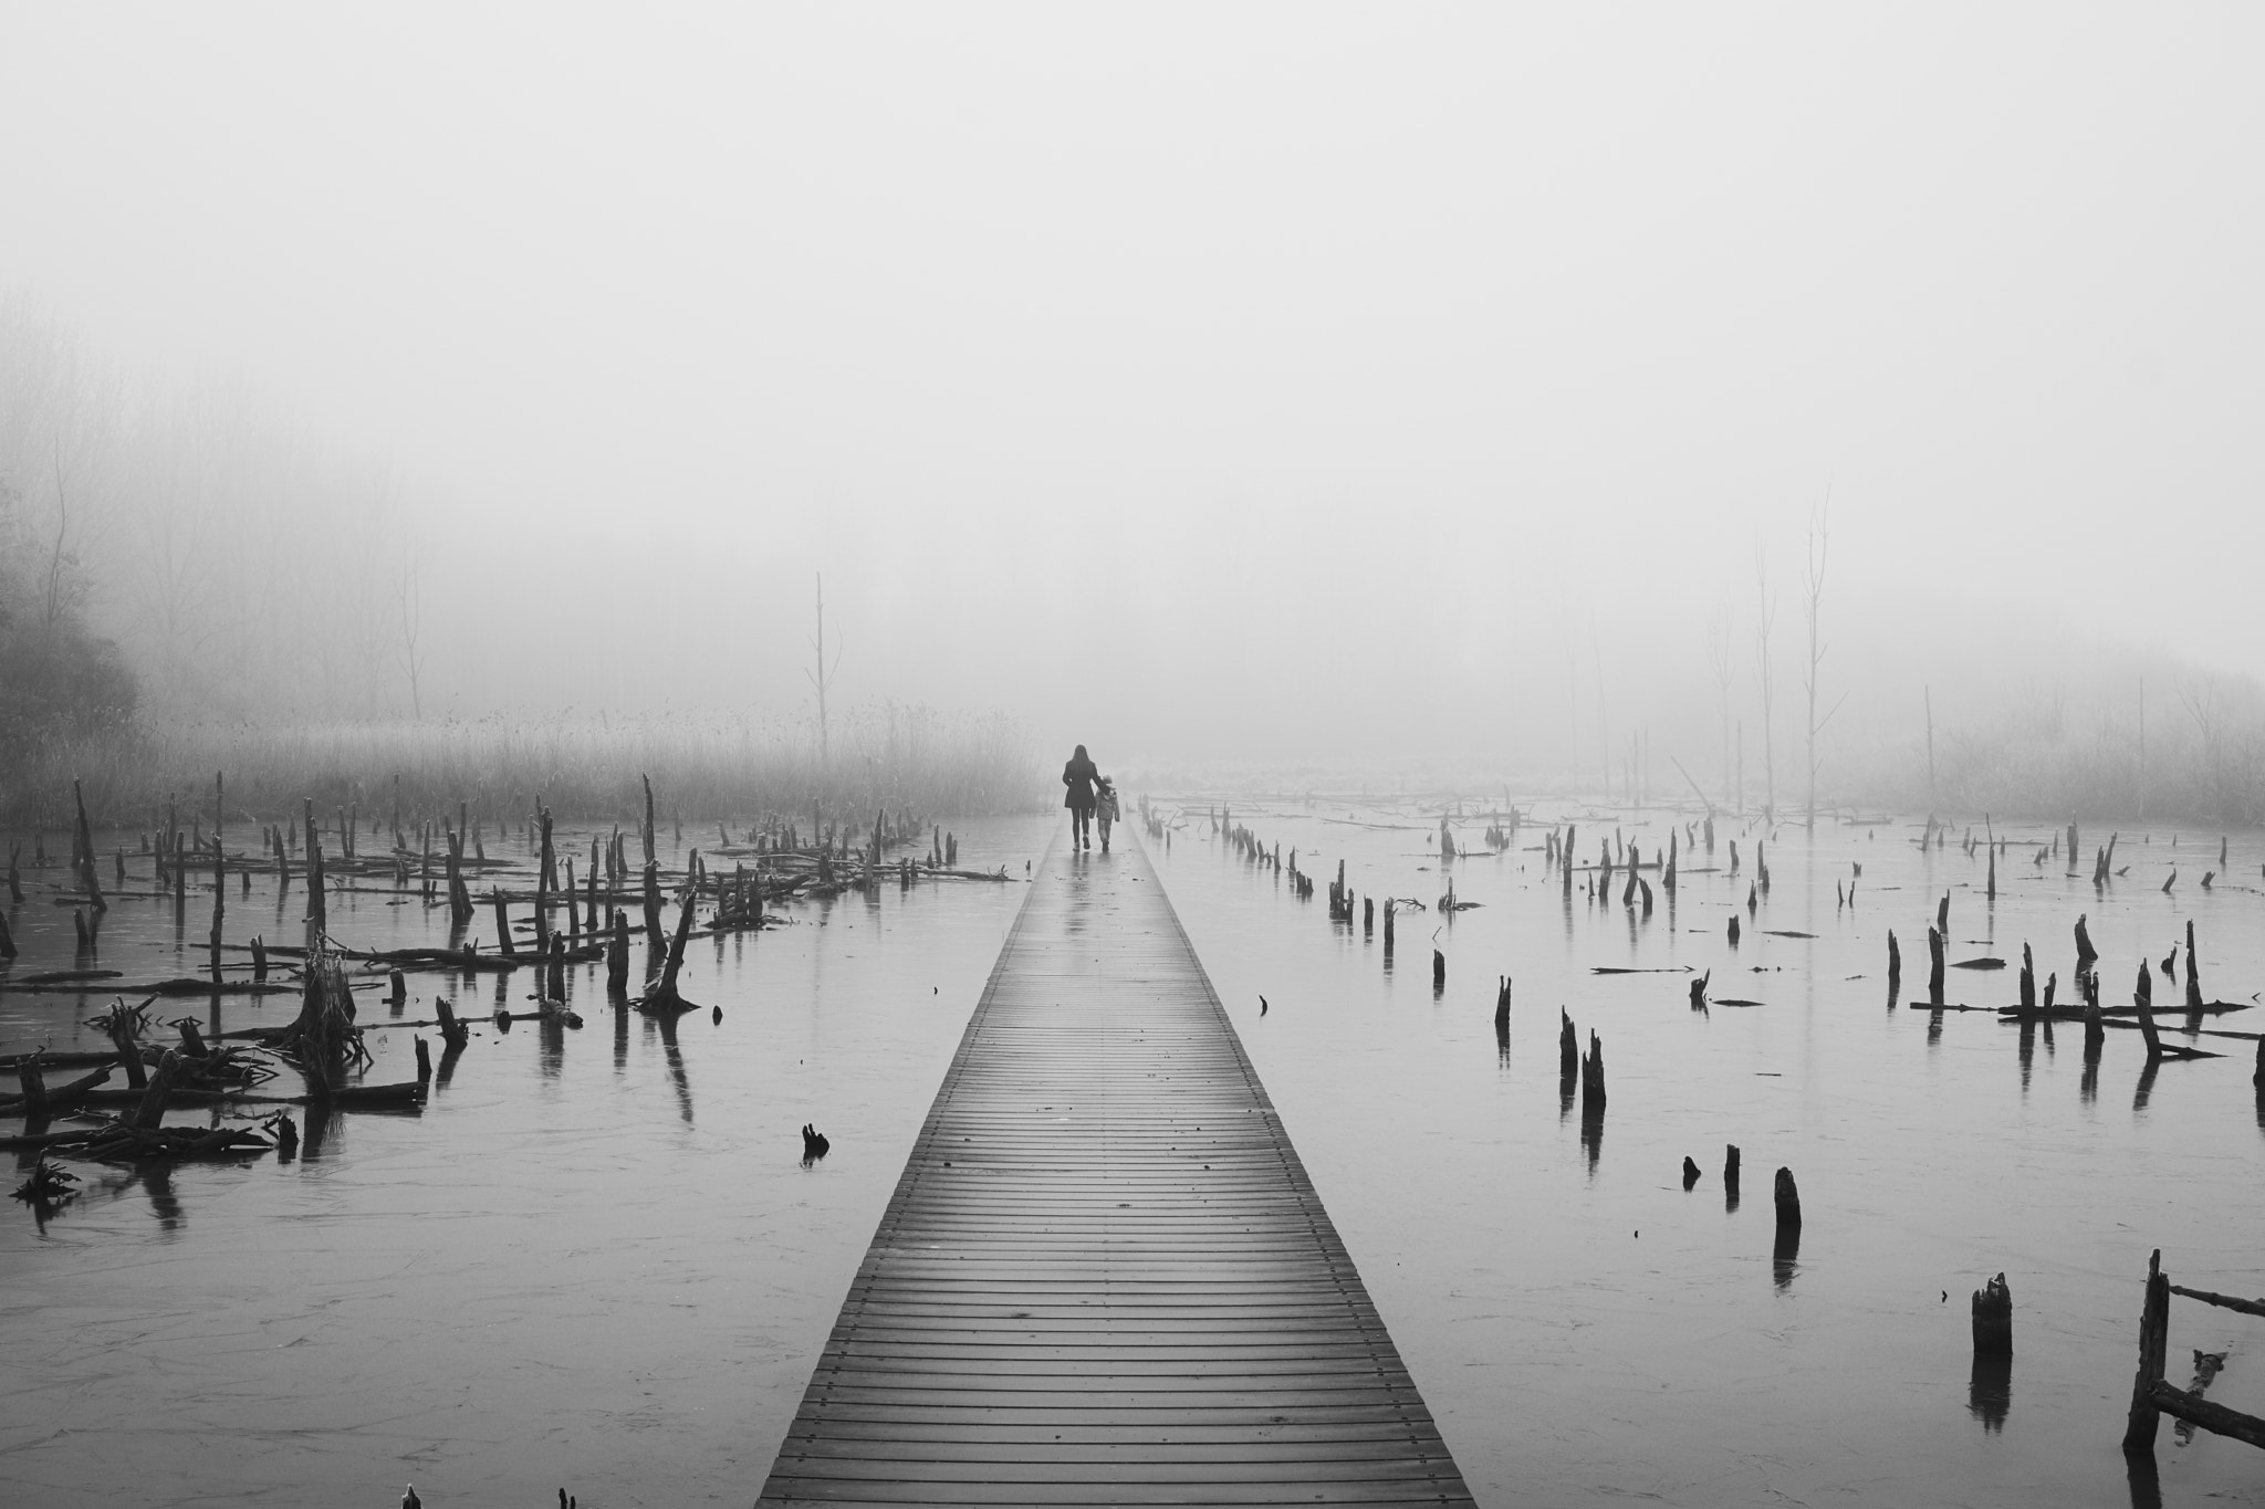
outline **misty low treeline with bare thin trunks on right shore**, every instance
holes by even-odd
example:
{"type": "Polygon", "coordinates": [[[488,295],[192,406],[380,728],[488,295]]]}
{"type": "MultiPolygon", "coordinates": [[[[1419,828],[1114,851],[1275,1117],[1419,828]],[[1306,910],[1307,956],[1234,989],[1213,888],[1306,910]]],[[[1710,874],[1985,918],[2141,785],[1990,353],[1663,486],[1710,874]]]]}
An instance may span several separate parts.
{"type": "Polygon", "coordinates": [[[2265,821],[2265,685],[2084,629],[1914,633],[1835,597],[1830,511],[1755,538],[1667,681],[1565,640],[1572,790],[1780,824],[1853,810],[2265,821]],[[1776,570],[1773,570],[1773,557],[1776,570]],[[1792,557],[1785,570],[1783,557],[1792,557]],[[1855,654],[1837,649],[1848,645],[1855,654]],[[1694,663],[1696,661],[1696,663],[1694,663]]]}

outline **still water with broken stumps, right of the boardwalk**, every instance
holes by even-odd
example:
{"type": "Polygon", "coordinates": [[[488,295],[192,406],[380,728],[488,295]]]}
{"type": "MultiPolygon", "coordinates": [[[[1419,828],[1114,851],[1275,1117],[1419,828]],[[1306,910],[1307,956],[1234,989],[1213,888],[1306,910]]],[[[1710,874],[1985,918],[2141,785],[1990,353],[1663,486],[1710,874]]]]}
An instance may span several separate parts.
{"type": "MultiPolygon", "coordinates": [[[[1379,905],[1436,907],[1436,805],[1239,805],[1234,821],[1284,860],[1300,848],[1318,882],[1309,903],[1207,842],[1205,803],[1185,810],[1164,885],[1481,1502],[2127,1504],[2118,1441],[2147,1251],[2163,1249],[2174,1283],[2265,1294],[2256,1043],[2172,1032],[2229,1057],[2165,1063],[2143,1090],[2138,1034],[2111,1029],[2086,1090],[2082,1025],[2023,1034],[1907,1004],[1925,995],[1943,894],[1950,959],[2011,966],[1948,971],[1952,1002],[2014,1004],[2025,939],[2068,1000],[2079,912],[2104,1004],[2129,1000],[2138,957],[2161,959],[2188,919],[2206,993],[2249,1002],[2265,984],[2254,835],[2229,855],[2249,880],[2220,876],[2204,894],[2215,833],[2206,853],[2199,835],[2172,851],[2172,833],[2125,833],[2116,864],[2129,873],[2095,896],[2088,855],[2079,878],[2063,860],[2038,869],[2050,835],[2023,830],[1991,905],[1986,851],[1966,855],[1964,830],[1921,853],[1916,826],[1819,828],[1814,848],[1780,828],[1771,896],[1749,916],[1760,830],[1719,826],[1712,857],[1685,846],[1674,900],[1649,876],[1647,921],[1619,905],[1622,876],[1610,900],[1579,882],[1567,900],[1529,826],[1511,853],[1456,860],[1456,896],[1477,909],[1398,919],[1386,971],[1382,921],[1375,937],[1332,925],[1327,880],[1343,860],[1379,905]],[[1837,905],[1855,864],[1855,905],[1837,905]],[[2165,896],[2172,864],[2181,880],[2165,896]],[[1760,1004],[1696,1014],[1685,973],[1599,966],[1712,971],[1715,995],[1760,1004]],[[1506,1057],[1499,975],[1515,982],[1506,1057]],[[1561,1007],[1583,1045],[1590,1029],[1604,1038],[1595,1147],[1558,1095],[1561,1007]],[[1721,1183],[1730,1142],[1737,1210],[1721,1183]],[[1690,1192],[1685,1156],[1703,1170],[1690,1192]],[[1771,1260],[1780,1165],[1805,1217],[1792,1265],[1771,1260]],[[2016,1305],[2009,1378],[1977,1371],[1971,1346],[1968,1296],[1998,1271],[2016,1305]]],[[[1615,828],[1649,862],[1678,821],[1542,817],[1579,821],[1583,862],[1615,828]]],[[[1477,846],[1484,826],[1459,824],[1459,842],[1477,846]]],[[[2181,1000],[2161,973],[2156,1000],[2181,1000]]],[[[2208,1025],[2256,1032],[2256,1016],[2208,1025]]],[[[2260,1321],[2172,1301],[2172,1382],[2188,1382],[2193,1348],[2226,1351],[2211,1398],[2265,1414],[2260,1342],[2260,1321]]],[[[2249,1446],[2174,1446],[2165,1421],[2156,1455],[2163,1502],[2265,1502],[2265,1455],[2249,1446]]]]}

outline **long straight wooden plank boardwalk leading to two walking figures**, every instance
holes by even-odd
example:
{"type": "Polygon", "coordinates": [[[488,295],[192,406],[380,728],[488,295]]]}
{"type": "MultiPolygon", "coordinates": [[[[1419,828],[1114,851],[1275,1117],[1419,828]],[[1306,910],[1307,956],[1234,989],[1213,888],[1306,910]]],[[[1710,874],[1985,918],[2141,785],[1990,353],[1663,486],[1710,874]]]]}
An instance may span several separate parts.
{"type": "Polygon", "coordinates": [[[763,1502],[1470,1502],[1130,833],[1049,853],[763,1502]]]}

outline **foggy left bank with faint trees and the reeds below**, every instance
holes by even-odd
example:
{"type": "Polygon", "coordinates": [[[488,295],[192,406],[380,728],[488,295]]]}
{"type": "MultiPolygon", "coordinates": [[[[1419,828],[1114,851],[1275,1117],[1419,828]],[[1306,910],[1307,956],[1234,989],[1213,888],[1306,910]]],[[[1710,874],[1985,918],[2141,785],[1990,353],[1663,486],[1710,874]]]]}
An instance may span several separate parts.
{"type": "Polygon", "coordinates": [[[981,814],[1044,799],[999,715],[874,704],[800,715],[435,717],[448,654],[394,475],[220,382],[129,380],[0,294],[0,821],[140,821],[226,771],[247,810],[537,796],[686,817],[874,805],[981,814]],[[267,803],[260,808],[258,803],[267,803]]]}

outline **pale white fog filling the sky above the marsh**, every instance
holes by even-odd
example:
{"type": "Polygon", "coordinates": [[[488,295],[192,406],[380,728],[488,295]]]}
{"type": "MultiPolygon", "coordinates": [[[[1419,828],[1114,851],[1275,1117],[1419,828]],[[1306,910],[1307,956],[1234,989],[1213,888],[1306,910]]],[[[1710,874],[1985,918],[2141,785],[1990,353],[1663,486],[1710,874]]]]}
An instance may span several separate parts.
{"type": "MultiPolygon", "coordinates": [[[[2260,43],[2236,7],[14,7],[0,292],[140,416],[79,527],[159,701],[285,715],[299,681],[222,670],[351,613],[349,710],[405,715],[412,588],[428,717],[800,715],[822,572],[836,701],[1155,769],[1595,778],[1642,726],[1712,783],[1728,636],[1758,787],[1755,563],[1789,762],[1812,520],[1848,760],[1923,688],[2265,665],[2260,43]],[[208,595],[161,613],[188,495],[208,595]]],[[[16,403],[39,516],[68,468],[16,403]]]]}

